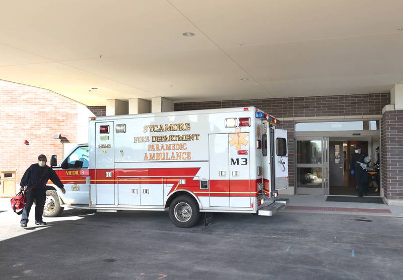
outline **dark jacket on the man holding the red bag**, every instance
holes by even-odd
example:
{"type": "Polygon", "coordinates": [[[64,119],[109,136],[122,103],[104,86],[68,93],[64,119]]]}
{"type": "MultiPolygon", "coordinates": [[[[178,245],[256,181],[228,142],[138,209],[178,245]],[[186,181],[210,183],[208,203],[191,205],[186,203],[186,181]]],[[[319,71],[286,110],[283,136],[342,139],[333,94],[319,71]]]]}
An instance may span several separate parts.
{"type": "Polygon", "coordinates": [[[32,164],[28,167],[21,179],[20,186],[27,186],[27,189],[29,190],[33,185],[35,185],[36,182],[39,181],[45,171],[45,176],[43,176],[42,180],[38,183],[38,185],[36,185],[34,190],[46,190],[46,183],[49,179],[60,189],[64,187],[53,169],[47,165],[41,167],[38,163],[32,164]]]}

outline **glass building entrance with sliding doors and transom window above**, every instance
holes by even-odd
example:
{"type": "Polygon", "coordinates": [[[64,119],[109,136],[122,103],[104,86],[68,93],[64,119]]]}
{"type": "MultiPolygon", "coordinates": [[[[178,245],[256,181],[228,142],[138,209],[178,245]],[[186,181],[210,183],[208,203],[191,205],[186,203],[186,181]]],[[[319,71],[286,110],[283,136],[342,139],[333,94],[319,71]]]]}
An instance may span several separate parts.
{"type": "Polygon", "coordinates": [[[368,176],[367,196],[382,196],[379,121],[297,123],[295,134],[296,194],[357,196],[352,155],[360,146],[370,160],[360,164],[368,176]]]}

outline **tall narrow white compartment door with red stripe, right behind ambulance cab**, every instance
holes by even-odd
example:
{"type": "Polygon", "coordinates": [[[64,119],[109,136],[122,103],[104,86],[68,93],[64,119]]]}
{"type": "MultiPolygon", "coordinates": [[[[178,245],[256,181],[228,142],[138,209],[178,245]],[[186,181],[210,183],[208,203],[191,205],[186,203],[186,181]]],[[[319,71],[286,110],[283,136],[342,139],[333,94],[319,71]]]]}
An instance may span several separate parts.
{"type": "MultiPolygon", "coordinates": [[[[113,122],[96,123],[96,204],[115,204],[113,122]]],[[[93,178],[91,178],[93,179],[93,178]]]]}

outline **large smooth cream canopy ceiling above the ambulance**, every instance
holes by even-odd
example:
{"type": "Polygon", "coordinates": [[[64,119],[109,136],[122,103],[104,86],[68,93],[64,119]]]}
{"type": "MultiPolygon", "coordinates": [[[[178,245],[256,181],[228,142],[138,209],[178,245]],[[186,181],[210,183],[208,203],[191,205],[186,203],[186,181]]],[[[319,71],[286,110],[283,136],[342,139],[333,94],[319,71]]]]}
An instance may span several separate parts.
{"type": "Polygon", "coordinates": [[[403,78],[402,10],[401,0],[6,1],[0,79],[87,105],[386,92],[403,78]]]}

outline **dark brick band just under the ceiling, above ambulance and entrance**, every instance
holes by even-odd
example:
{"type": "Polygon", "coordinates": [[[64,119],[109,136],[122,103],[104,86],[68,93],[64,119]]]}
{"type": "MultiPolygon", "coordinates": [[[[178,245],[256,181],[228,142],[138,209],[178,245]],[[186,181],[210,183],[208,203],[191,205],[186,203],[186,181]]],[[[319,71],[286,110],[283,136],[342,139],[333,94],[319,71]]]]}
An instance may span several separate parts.
{"type": "Polygon", "coordinates": [[[178,102],[175,111],[255,106],[277,118],[381,115],[390,93],[178,102]]]}

